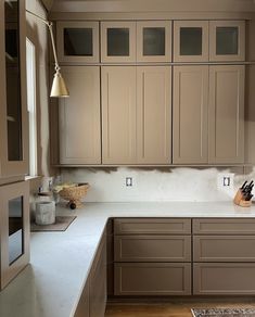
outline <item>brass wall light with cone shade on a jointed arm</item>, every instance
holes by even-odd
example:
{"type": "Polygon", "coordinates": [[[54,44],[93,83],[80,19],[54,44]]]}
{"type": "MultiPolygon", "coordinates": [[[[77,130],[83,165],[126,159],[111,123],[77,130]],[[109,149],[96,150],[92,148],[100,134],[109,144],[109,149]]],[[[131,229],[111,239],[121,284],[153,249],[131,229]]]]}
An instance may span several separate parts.
{"type": "Polygon", "coordinates": [[[64,78],[61,75],[61,72],[60,72],[61,67],[60,67],[59,62],[58,62],[56,50],[55,50],[55,41],[54,41],[54,36],[53,36],[53,30],[52,30],[53,23],[42,18],[41,16],[30,12],[29,10],[26,10],[26,12],[28,12],[29,14],[36,16],[40,21],[42,21],[48,26],[49,31],[50,31],[52,51],[53,51],[54,63],[55,63],[55,74],[54,74],[53,81],[52,81],[50,97],[55,97],[55,98],[69,97],[68,89],[67,89],[67,87],[65,85],[64,78]]]}

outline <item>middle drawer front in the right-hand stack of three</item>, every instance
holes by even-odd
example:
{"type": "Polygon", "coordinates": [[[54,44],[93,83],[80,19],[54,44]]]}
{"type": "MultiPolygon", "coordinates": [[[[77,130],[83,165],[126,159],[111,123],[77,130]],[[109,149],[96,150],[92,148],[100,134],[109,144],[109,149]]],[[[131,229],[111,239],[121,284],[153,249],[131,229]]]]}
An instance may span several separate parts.
{"type": "Polygon", "coordinates": [[[194,236],[194,262],[255,262],[254,236],[194,236]]]}

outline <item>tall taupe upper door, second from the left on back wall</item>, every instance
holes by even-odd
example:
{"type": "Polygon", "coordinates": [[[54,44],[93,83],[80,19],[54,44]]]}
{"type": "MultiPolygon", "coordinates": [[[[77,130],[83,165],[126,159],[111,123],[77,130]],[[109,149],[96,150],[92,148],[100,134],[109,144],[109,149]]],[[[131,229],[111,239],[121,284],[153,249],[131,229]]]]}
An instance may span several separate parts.
{"type": "Polygon", "coordinates": [[[137,163],[136,67],[102,67],[103,164],[137,163]]]}

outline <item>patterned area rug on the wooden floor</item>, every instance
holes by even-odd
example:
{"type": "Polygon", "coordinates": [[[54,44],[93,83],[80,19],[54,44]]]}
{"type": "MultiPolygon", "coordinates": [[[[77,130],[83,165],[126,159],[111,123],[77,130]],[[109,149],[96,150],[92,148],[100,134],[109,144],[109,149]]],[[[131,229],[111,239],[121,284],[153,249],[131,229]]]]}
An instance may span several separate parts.
{"type": "Polygon", "coordinates": [[[255,308],[192,308],[193,317],[255,317],[255,308]]]}

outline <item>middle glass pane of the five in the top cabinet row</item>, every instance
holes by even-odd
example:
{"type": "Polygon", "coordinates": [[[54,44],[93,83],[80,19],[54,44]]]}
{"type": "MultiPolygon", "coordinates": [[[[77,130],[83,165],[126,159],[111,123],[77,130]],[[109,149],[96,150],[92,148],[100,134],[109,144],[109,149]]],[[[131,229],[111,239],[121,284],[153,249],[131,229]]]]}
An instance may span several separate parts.
{"type": "Polygon", "coordinates": [[[143,55],[165,55],[164,27],[143,27],[143,55]]]}

